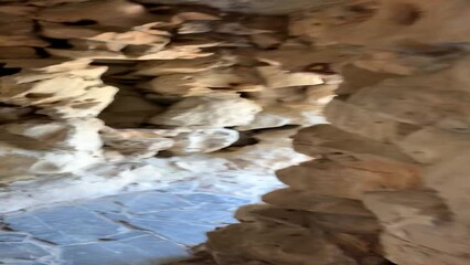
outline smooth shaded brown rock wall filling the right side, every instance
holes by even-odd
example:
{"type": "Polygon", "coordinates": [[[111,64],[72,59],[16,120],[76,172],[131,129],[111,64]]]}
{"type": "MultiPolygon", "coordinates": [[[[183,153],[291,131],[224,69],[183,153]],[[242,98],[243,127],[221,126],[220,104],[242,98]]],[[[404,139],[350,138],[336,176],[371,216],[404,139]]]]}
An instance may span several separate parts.
{"type": "Polygon", "coordinates": [[[293,14],[291,35],[351,55],[331,124],[295,136],[316,159],[277,171],[287,188],[209,233],[215,262],[469,264],[469,22],[461,0],[293,14]]]}

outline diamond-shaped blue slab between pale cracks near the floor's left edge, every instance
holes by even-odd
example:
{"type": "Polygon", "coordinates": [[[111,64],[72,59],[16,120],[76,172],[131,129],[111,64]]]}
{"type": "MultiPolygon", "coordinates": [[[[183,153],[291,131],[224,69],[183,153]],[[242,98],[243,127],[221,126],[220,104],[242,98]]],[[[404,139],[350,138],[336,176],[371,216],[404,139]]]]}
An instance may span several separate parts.
{"type": "Polygon", "coordinates": [[[54,244],[76,244],[125,232],[126,229],[98,214],[77,206],[61,206],[6,216],[15,231],[25,231],[54,244]]]}

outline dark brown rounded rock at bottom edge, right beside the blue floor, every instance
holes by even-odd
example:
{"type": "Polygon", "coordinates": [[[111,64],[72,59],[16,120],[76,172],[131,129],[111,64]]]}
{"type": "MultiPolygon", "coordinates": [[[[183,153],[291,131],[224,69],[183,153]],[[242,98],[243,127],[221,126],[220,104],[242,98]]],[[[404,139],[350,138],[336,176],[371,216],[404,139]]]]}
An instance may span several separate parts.
{"type": "Polygon", "coordinates": [[[210,232],[209,239],[207,247],[216,261],[218,256],[227,255],[242,261],[286,265],[355,264],[337,246],[327,243],[320,232],[312,233],[299,227],[244,223],[210,232]]]}

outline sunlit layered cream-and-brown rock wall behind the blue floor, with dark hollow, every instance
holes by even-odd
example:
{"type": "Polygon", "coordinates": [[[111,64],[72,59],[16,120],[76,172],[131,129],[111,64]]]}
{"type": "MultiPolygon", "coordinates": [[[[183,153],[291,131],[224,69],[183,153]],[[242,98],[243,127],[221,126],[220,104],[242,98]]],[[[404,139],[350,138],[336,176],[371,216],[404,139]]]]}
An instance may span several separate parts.
{"type": "Polygon", "coordinates": [[[324,123],[339,51],[286,15],[160,2],[0,1],[0,212],[307,159],[289,136],[324,123]]]}

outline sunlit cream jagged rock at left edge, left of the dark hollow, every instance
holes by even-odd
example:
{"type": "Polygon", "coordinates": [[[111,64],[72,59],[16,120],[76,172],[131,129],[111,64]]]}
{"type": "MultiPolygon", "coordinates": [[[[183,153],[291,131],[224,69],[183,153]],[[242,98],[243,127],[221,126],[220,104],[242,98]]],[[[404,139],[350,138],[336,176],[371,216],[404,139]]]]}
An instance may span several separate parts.
{"type": "Polygon", "coordinates": [[[0,102],[39,107],[38,113],[53,118],[95,117],[117,93],[117,88],[98,80],[106,68],[79,66],[71,72],[45,68],[4,76],[0,78],[0,102]]]}

